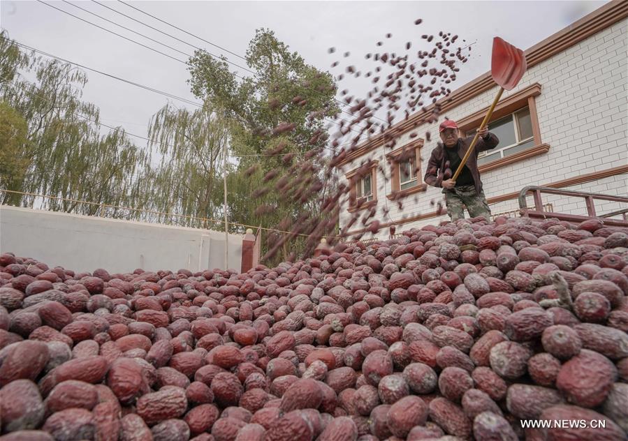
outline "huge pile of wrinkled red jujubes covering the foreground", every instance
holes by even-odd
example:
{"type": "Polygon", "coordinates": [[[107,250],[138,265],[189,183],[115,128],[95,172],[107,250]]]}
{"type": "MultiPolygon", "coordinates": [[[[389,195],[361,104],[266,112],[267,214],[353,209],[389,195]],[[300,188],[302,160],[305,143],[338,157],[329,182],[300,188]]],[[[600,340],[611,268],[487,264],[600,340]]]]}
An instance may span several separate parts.
{"type": "Polygon", "coordinates": [[[0,440],[625,440],[627,294],[628,229],[597,220],[466,219],[246,274],[5,253],[0,440]]]}

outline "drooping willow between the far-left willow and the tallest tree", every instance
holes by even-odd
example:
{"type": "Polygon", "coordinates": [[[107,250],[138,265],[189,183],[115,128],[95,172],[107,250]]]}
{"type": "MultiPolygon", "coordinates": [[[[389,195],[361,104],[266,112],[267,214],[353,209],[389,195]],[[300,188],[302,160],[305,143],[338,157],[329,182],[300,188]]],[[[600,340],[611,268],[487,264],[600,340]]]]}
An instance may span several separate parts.
{"type": "Polygon", "coordinates": [[[150,181],[153,197],[149,205],[163,213],[205,218],[199,222],[162,215],[161,220],[171,217],[178,225],[217,227],[207,218],[222,213],[222,204],[216,201],[223,194],[221,175],[228,136],[228,121],[208,105],[188,110],[168,104],[152,117],[150,144],[162,160],[150,181]]]}

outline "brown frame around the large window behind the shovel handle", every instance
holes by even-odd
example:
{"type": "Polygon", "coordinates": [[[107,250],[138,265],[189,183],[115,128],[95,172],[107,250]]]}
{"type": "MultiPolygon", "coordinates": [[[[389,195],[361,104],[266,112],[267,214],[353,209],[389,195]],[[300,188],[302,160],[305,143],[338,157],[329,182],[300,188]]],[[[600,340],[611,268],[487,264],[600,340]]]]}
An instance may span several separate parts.
{"type": "MultiPolygon", "coordinates": [[[[504,98],[502,101],[497,103],[495,106],[495,110],[492,114],[489,124],[495,122],[499,119],[512,115],[520,110],[525,109],[525,107],[530,108],[530,124],[532,125],[532,138],[526,138],[527,140],[534,140],[532,143],[532,147],[529,147],[525,150],[518,151],[515,154],[502,156],[503,150],[507,150],[512,147],[516,147],[517,145],[523,144],[523,142],[519,142],[518,144],[514,144],[513,146],[506,146],[499,148],[500,151],[499,158],[495,158],[494,160],[489,161],[488,163],[483,163],[479,165],[478,169],[482,172],[488,172],[488,170],[495,170],[499,167],[504,167],[505,165],[509,165],[512,163],[516,163],[520,160],[525,160],[527,158],[532,158],[534,156],[539,156],[542,154],[546,154],[550,146],[549,144],[543,143],[541,141],[541,129],[539,128],[539,116],[536,112],[536,96],[541,94],[541,84],[534,83],[530,86],[526,87],[518,91],[516,94],[512,94],[511,96],[504,98]]],[[[462,118],[458,121],[458,128],[460,128],[461,133],[473,133],[476,130],[482,120],[484,119],[486,112],[488,112],[488,107],[485,107],[478,112],[470,114],[469,116],[462,118]]],[[[518,124],[515,124],[518,126],[518,124]]],[[[519,130],[516,127],[515,130],[519,130]]],[[[478,159],[481,159],[486,156],[490,156],[493,154],[493,150],[487,151],[486,154],[482,156],[478,156],[478,159]]]]}

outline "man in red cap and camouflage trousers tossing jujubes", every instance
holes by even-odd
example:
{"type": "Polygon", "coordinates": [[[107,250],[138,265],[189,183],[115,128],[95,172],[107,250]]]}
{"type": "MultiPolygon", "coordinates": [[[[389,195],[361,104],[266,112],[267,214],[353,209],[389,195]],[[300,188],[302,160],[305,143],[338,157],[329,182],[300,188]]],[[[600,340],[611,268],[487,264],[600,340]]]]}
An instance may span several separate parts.
{"type": "Polygon", "coordinates": [[[439,134],[442,144],[439,142],[432,151],[428,170],[425,172],[423,180],[433,187],[443,188],[447,204],[447,214],[451,221],[465,218],[464,207],[467,207],[469,216],[472,218],[483,216],[490,220],[490,208],[486,202],[480,172],[478,170],[478,154],[481,151],[495,149],[499,140],[495,135],[488,132],[488,128],[480,130],[479,140],[476,142],[474,151],[469,155],[467,163],[462,167],[462,172],[458,179],[451,179],[458,166],[465,157],[467,149],[473,137],[460,137],[458,126],[455,121],[447,119],[439,126],[439,134]]]}

